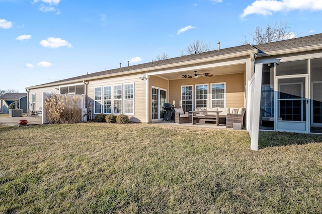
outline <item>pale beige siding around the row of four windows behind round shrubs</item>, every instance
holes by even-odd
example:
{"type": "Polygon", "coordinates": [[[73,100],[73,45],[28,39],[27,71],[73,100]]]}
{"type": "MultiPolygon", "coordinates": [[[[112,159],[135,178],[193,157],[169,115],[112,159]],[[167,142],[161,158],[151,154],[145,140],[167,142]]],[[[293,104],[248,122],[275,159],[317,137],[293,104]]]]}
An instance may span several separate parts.
{"type": "MultiPolygon", "coordinates": [[[[122,84],[122,105],[124,105],[124,84],[134,83],[134,115],[129,115],[131,122],[145,122],[145,83],[146,80],[141,80],[139,77],[143,73],[135,75],[122,75],[112,78],[104,78],[91,80],[88,84],[88,100],[94,101],[94,88],[106,85],[122,84]]],[[[112,88],[113,90],[113,88],[112,88]]],[[[124,107],[124,106],[123,106],[124,107]]],[[[94,105],[93,105],[94,108],[94,105]]],[[[124,108],[122,108],[124,111],[124,108]]],[[[93,110],[94,113],[94,110],[93,110]]]]}

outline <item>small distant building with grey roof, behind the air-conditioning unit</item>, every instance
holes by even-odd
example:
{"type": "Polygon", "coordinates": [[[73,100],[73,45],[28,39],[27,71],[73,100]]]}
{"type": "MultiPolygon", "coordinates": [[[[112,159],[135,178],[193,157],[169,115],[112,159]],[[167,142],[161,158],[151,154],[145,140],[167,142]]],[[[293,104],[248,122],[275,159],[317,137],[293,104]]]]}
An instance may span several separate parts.
{"type": "Polygon", "coordinates": [[[5,93],[0,96],[1,113],[8,113],[10,103],[16,102],[16,109],[27,112],[27,93],[5,93]]]}

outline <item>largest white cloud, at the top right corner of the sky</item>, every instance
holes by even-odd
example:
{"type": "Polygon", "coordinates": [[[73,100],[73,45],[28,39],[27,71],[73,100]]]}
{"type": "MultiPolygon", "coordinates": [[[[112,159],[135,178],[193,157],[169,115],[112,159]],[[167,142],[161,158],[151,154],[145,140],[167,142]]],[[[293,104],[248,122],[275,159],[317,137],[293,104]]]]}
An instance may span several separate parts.
{"type": "Polygon", "coordinates": [[[273,15],[274,12],[289,12],[295,10],[322,10],[322,0],[257,0],[252,5],[244,9],[241,17],[251,14],[257,15],[273,15]]]}

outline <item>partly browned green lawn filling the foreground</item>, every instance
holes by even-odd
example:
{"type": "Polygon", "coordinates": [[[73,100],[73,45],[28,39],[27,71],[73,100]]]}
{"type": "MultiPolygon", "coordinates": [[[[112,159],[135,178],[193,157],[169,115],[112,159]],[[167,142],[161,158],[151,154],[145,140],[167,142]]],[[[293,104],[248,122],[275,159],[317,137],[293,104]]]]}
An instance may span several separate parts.
{"type": "Polygon", "coordinates": [[[0,213],[318,213],[322,135],[0,125],[0,213]]]}

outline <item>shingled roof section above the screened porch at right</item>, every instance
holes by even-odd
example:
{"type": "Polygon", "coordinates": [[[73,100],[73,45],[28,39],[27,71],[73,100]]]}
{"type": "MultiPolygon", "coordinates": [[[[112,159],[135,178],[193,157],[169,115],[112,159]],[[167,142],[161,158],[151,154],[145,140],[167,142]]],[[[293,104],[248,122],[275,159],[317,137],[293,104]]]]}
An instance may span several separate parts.
{"type": "Polygon", "coordinates": [[[315,34],[311,36],[298,37],[294,39],[287,39],[278,42],[271,42],[261,45],[254,45],[260,52],[280,51],[293,48],[308,47],[313,45],[322,45],[322,34],[315,34]]]}

